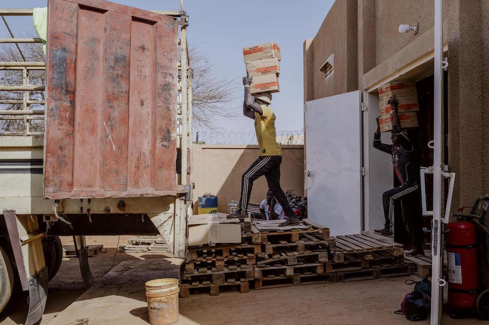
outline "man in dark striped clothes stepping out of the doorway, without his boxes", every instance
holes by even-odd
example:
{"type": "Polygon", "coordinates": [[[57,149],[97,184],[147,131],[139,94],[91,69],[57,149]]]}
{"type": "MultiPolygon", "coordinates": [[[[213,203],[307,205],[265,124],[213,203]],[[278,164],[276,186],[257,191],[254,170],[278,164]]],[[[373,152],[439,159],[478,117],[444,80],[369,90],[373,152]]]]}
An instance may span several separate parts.
{"type": "Polygon", "coordinates": [[[408,137],[408,133],[400,128],[396,98],[391,98],[389,102],[393,107],[392,145],[381,142],[381,129],[377,119],[377,131],[374,135],[373,147],[391,154],[394,174],[398,181],[396,183],[400,184],[400,186],[389,189],[382,195],[386,222],[384,229],[375,229],[374,231],[383,236],[392,236],[394,204],[400,202],[404,226],[408,229],[411,240],[415,245],[415,250],[410,255],[424,255],[423,219],[419,209],[419,170],[414,161],[414,146],[408,137]]]}

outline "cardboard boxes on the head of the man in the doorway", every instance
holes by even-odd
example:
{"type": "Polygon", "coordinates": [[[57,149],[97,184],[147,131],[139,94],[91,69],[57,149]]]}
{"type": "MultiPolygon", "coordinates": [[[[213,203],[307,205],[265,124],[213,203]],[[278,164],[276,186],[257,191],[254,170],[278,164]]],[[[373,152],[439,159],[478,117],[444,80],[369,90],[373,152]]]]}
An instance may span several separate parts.
{"type": "Polygon", "coordinates": [[[392,130],[392,106],[389,98],[396,96],[398,101],[399,122],[402,128],[418,126],[417,111],[419,111],[416,86],[411,81],[397,81],[385,84],[378,88],[379,109],[381,117],[378,119],[381,132],[392,130]]]}

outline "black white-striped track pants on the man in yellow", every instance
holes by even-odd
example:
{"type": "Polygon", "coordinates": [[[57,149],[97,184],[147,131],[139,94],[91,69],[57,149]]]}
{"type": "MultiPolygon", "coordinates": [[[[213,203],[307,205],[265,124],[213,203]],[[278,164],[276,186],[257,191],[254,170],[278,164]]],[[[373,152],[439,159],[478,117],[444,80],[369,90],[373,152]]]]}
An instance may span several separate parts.
{"type": "Polygon", "coordinates": [[[285,215],[295,218],[294,211],[287,201],[284,191],[280,187],[280,164],[282,156],[259,156],[241,178],[241,196],[239,198],[238,212],[247,213],[253,182],[265,175],[268,188],[284,209],[285,215]]]}

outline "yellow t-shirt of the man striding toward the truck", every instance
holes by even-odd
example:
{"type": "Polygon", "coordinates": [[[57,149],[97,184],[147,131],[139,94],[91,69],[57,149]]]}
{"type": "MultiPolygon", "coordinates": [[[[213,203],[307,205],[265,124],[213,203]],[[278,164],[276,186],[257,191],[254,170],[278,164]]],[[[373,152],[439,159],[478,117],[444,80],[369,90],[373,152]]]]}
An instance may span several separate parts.
{"type": "Polygon", "coordinates": [[[281,156],[282,149],[275,139],[275,114],[270,107],[260,105],[263,115],[255,112],[255,131],[258,146],[260,146],[260,156],[281,156]]]}

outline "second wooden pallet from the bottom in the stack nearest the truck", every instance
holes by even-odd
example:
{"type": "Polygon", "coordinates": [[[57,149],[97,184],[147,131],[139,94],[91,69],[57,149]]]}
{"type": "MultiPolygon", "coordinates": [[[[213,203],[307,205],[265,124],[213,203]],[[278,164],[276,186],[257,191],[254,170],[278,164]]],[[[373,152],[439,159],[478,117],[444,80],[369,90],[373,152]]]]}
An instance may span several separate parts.
{"type": "Polygon", "coordinates": [[[222,268],[216,268],[211,265],[204,265],[192,271],[183,272],[182,279],[187,282],[194,282],[198,279],[209,280],[212,284],[222,284],[228,282],[229,279],[234,279],[236,276],[246,280],[253,280],[255,277],[252,265],[227,265],[222,268]]]}

